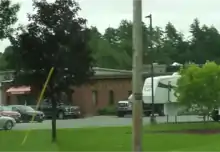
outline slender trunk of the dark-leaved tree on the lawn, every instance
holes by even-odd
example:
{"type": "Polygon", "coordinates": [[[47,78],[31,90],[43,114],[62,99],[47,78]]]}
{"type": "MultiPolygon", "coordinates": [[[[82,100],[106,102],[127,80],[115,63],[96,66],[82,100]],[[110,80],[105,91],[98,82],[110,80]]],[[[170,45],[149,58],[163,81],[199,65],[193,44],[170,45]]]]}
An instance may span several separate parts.
{"type": "Polygon", "coordinates": [[[52,142],[57,140],[57,131],[56,131],[56,119],[57,119],[57,102],[54,97],[52,97],[52,142]]]}

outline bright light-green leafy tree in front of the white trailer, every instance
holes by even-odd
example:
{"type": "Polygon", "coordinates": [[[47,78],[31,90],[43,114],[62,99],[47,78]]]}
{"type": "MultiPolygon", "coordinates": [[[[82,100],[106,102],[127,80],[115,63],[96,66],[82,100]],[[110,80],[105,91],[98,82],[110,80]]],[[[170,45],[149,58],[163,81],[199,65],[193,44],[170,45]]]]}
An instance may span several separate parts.
{"type": "Polygon", "coordinates": [[[202,67],[191,64],[180,71],[177,100],[188,108],[197,108],[205,116],[220,106],[220,66],[207,62],[202,67]]]}

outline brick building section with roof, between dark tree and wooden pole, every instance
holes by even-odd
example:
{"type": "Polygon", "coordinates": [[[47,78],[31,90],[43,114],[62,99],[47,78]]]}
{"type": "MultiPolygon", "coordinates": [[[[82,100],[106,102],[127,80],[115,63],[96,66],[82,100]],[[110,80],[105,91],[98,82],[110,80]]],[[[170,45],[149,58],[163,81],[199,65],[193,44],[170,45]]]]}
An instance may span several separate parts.
{"type": "Polygon", "coordinates": [[[131,71],[94,68],[90,84],[74,88],[73,104],[80,106],[86,115],[94,115],[98,109],[127,99],[131,93],[131,71]]]}

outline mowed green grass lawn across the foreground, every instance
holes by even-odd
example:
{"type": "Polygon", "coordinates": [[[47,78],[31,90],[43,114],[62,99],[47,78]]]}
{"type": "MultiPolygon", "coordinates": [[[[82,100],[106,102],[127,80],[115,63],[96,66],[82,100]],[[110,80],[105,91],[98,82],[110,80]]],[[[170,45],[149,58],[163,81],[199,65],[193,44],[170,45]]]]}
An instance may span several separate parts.
{"type": "MultiPolygon", "coordinates": [[[[220,129],[220,124],[169,124],[145,126],[143,152],[219,152],[220,134],[153,133],[152,131],[220,129]]],[[[33,130],[21,146],[24,131],[0,131],[1,152],[131,152],[130,127],[58,130],[51,143],[50,130],[33,130]]]]}

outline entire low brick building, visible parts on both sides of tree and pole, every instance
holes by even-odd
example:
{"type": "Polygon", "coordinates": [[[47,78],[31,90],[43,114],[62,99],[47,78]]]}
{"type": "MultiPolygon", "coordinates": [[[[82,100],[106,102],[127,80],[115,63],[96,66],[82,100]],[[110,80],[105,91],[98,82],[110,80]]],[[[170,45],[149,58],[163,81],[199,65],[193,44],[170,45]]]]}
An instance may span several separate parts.
{"type": "MultiPolygon", "coordinates": [[[[143,71],[146,72],[143,73],[143,80],[149,76],[148,69],[149,66],[144,67],[143,71]]],[[[95,67],[94,71],[95,74],[90,83],[74,87],[74,93],[72,94],[72,104],[80,106],[84,115],[94,115],[98,109],[114,105],[119,100],[126,100],[132,90],[132,71],[98,67],[95,67]]],[[[161,66],[155,68],[155,75],[164,74],[168,74],[164,68],[161,66]]],[[[6,91],[10,89],[10,85],[7,84],[4,83],[4,87],[1,90],[3,104],[24,104],[26,102],[24,97],[28,105],[35,104],[36,92],[24,95],[9,94],[6,91]]]]}

